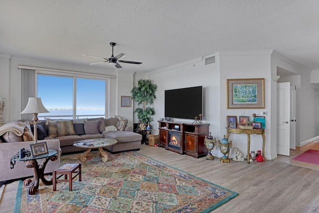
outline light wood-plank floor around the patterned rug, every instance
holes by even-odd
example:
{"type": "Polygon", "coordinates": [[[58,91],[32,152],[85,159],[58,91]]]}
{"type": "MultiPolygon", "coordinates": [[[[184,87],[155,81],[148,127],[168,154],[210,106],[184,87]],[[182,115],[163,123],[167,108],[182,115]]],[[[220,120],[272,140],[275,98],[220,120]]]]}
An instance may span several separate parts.
{"type": "MultiPolygon", "coordinates": [[[[220,163],[142,145],[139,153],[239,193],[214,213],[318,213],[319,171],[277,161],[220,163]]],[[[6,185],[0,213],[12,212],[16,182],[6,185]]]]}

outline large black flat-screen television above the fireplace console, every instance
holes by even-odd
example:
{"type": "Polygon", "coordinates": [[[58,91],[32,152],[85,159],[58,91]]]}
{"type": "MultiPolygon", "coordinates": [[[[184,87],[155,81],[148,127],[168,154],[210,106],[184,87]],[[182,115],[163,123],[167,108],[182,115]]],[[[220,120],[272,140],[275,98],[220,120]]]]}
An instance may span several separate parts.
{"type": "Polygon", "coordinates": [[[202,112],[202,86],[165,90],[165,118],[199,119],[202,112]]]}

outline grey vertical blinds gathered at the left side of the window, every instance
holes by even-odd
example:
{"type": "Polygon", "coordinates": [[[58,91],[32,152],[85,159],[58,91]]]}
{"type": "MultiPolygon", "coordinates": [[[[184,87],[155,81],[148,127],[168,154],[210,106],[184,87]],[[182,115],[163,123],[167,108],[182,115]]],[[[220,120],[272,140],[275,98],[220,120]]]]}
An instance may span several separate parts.
{"type": "MultiPolygon", "coordinates": [[[[33,69],[21,69],[21,112],[29,97],[35,97],[36,75],[33,69]]],[[[21,119],[32,120],[32,114],[21,114],[21,119]]]]}

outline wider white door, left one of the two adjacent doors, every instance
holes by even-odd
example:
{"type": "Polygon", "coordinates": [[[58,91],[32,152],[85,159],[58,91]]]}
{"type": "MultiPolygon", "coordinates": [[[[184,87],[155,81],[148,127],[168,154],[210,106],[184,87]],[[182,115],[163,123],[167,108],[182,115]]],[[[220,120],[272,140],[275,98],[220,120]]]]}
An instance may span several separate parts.
{"type": "Polygon", "coordinates": [[[277,154],[289,156],[290,82],[277,83],[277,154]]]}

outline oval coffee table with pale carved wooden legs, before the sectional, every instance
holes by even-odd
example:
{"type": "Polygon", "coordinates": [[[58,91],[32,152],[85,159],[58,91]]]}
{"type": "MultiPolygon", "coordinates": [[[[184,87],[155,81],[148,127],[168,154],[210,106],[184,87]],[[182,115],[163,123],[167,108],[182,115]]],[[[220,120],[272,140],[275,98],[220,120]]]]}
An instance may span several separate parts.
{"type": "Polygon", "coordinates": [[[87,139],[78,142],[74,142],[73,146],[88,149],[83,154],[80,155],[80,161],[82,163],[86,162],[86,155],[91,152],[91,149],[98,148],[99,156],[102,156],[102,161],[107,162],[109,160],[108,154],[103,150],[103,147],[111,146],[116,144],[118,141],[111,138],[97,138],[97,139],[87,139]]]}

